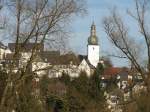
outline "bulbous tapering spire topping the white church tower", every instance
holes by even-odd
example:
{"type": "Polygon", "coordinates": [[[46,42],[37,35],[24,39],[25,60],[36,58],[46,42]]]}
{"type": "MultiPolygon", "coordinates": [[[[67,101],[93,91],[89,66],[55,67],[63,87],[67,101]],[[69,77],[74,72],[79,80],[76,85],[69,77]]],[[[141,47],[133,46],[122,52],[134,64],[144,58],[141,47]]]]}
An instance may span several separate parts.
{"type": "Polygon", "coordinates": [[[88,38],[88,44],[89,45],[97,45],[98,44],[98,39],[96,36],[96,26],[95,26],[94,22],[92,23],[92,26],[91,26],[91,35],[88,38]]]}

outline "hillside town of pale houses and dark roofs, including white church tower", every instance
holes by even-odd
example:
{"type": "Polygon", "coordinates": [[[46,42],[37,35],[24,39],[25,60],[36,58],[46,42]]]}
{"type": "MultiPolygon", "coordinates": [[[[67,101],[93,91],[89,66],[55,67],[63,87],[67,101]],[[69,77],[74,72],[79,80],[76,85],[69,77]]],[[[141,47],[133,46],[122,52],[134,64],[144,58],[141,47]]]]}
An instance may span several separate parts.
{"type": "MultiPolygon", "coordinates": [[[[34,74],[35,80],[33,80],[33,83],[38,84],[42,77],[45,76],[50,80],[62,78],[66,74],[74,80],[81,77],[80,75],[83,72],[85,72],[87,77],[98,75],[97,78],[100,80],[99,85],[105,90],[103,95],[105,96],[108,109],[114,112],[121,112],[122,109],[119,104],[123,101],[130,101],[131,92],[132,95],[138,95],[141,91],[146,90],[143,79],[140,73],[134,68],[113,67],[110,60],[103,58],[100,53],[100,45],[94,23],[91,25],[90,32],[91,34],[87,39],[87,55],[61,54],[60,51],[45,51],[44,44],[28,42],[25,45],[23,43],[18,44],[21,51],[17,58],[14,58],[16,44],[9,43],[8,46],[5,46],[1,43],[0,68],[2,71],[6,71],[6,73],[9,73],[10,70],[15,74],[20,72],[20,70],[24,71],[24,68],[33,55],[32,49],[36,46],[36,55],[29,69],[34,74]]],[[[52,85],[50,84],[49,86],[52,85]]],[[[55,88],[58,94],[66,91],[65,85],[59,84],[57,86],[60,86],[59,88],[55,88]]],[[[38,88],[36,87],[36,89],[38,88]]],[[[56,91],[55,89],[54,91],[56,91]]]]}

